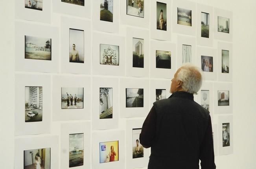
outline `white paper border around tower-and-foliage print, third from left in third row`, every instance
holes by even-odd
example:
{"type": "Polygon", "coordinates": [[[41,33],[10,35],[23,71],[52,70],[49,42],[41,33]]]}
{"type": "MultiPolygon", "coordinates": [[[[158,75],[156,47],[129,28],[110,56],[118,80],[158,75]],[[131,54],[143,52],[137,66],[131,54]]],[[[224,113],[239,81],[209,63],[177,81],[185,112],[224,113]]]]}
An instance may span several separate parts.
{"type": "Polygon", "coordinates": [[[118,128],[119,119],[119,79],[107,77],[92,78],[92,129],[118,128]],[[99,88],[112,88],[112,119],[99,119],[99,88]]]}

